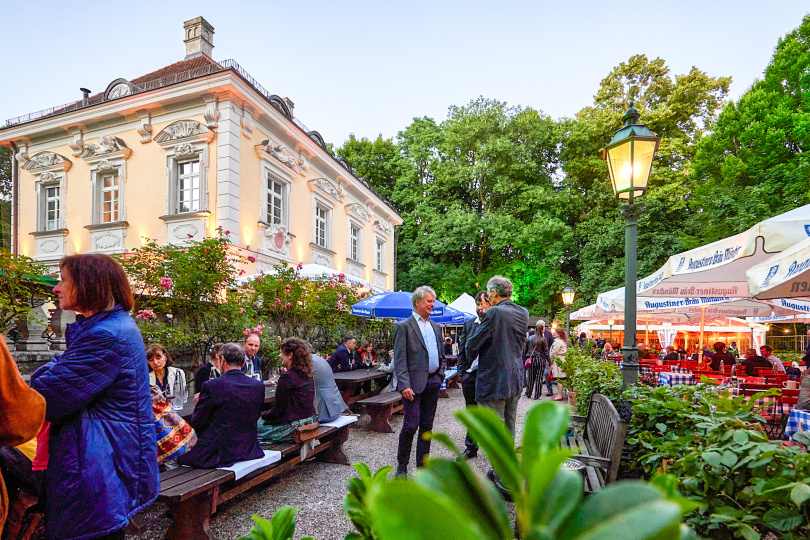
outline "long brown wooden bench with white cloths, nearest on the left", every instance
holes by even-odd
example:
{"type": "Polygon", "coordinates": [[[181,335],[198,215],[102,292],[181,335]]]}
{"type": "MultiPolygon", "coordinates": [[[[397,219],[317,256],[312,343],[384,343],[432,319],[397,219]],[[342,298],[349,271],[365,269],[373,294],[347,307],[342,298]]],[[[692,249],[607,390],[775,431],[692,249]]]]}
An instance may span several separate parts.
{"type": "MultiPolygon", "coordinates": [[[[318,432],[320,444],[312,448],[303,459],[314,457],[327,463],[349,465],[343,453],[343,443],[349,438],[349,426],[341,428],[322,426],[318,432]]],[[[262,484],[301,463],[300,444],[282,443],[265,445],[264,450],[281,452],[281,460],[257,469],[235,480],[233,471],[195,469],[181,466],[160,475],[158,501],[168,504],[174,519],[166,532],[166,540],[208,540],[213,538],[208,519],[217,511],[217,505],[262,484]]]]}

